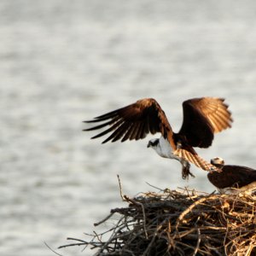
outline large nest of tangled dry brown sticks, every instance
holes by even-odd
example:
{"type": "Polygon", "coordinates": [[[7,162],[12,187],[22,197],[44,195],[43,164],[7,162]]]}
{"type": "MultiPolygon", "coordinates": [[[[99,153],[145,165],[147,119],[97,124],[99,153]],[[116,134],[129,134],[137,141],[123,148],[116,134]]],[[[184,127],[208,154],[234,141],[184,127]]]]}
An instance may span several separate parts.
{"type": "Polygon", "coordinates": [[[62,247],[89,245],[102,256],[256,255],[256,195],[166,189],[122,198],[127,207],[98,223],[118,214],[110,230],[62,247]]]}

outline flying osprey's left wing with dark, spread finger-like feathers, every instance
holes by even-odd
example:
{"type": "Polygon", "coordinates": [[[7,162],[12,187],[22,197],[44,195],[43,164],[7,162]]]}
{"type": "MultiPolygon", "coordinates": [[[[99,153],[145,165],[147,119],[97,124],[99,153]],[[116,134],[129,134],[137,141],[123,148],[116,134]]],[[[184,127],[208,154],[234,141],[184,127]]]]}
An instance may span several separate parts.
{"type": "Polygon", "coordinates": [[[160,132],[163,137],[168,138],[172,148],[175,148],[172,139],[172,127],[166,119],[166,114],[160,108],[159,103],[152,98],[139,100],[124,108],[102,114],[93,120],[85,122],[96,123],[103,121],[105,122],[101,125],[96,125],[84,131],[93,131],[109,126],[107,130],[92,137],[102,137],[111,133],[102,143],[107,143],[110,140],[115,142],[119,139],[121,139],[121,142],[125,142],[127,139],[138,140],[146,137],[148,133],[160,132]]]}

